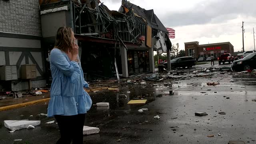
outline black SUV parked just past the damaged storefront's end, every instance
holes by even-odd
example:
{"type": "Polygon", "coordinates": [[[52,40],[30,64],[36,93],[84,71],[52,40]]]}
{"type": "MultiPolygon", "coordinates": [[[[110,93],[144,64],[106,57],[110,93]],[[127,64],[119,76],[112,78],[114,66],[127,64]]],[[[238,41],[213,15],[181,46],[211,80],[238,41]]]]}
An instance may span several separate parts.
{"type": "MultiPolygon", "coordinates": [[[[172,68],[192,68],[192,66],[196,65],[196,61],[192,56],[184,56],[180,58],[174,58],[171,60],[172,68]]],[[[164,63],[164,66],[167,67],[167,62],[164,63]]]]}

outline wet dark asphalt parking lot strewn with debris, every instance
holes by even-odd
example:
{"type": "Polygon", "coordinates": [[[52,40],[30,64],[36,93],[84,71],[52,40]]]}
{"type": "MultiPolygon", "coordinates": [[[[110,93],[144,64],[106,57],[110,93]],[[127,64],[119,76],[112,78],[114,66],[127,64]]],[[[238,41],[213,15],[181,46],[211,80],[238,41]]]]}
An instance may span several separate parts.
{"type": "MultiPolygon", "coordinates": [[[[256,144],[256,102],[252,101],[256,99],[255,91],[255,78],[216,72],[210,77],[167,79],[143,86],[129,84],[119,92],[90,93],[93,104],[110,102],[110,107],[92,106],[85,125],[100,128],[100,133],[84,136],[84,144],[227,144],[229,140],[256,144]],[[169,87],[164,86],[169,82],[169,87]],[[220,82],[220,85],[207,86],[207,82],[220,82]],[[172,96],[170,87],[174,91],[172,96]],[[131,92],[126,94],[127,98],[120,96],[127,91],[131,92]],[[127,105],[134,98],[148,102],[127,105]],[[138,113],[140,108],[149,110],[138,113]],[[198,111],[208,115],[195,116],[198,111]],[[156,115],[160,119],[154,119],[156,115]],[[214,137],[207,137],[210,134],[214,137]]],[[[43,103],[0,112],[0,144],[54,144],[60,136],[58,126],[46,124],[54,118],[36,116],[46,114],[47,106],[43,103]],[[4,126],[4,120],[23,119],[41,120],[41,124],[14,133],[9,133],[4,126]],[[16,139],[22,141],[14,141],[16,139]]]]}

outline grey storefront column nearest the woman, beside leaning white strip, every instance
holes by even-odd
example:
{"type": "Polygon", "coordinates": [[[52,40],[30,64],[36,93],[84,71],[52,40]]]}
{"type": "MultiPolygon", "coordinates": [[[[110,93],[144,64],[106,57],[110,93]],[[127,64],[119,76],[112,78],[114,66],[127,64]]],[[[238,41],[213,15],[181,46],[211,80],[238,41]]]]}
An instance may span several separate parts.
{"type": "Polygon", "coordinates": [[[127,51],[124,46],[120,46],[121,48],[121,61],[122,61],[122,76],[128,77],[128,62],[127,62],[127,51]]]}

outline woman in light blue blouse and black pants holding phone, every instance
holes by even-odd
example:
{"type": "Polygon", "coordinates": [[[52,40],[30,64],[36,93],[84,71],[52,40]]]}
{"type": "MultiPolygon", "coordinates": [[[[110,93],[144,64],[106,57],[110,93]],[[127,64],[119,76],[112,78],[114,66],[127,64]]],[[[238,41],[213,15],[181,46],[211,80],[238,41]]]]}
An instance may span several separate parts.
{"type": "Polygon", "coordinates": [[[56,144],[83,144],[86,112],[92,100],[84,88],[84,74],[78,57],[77,40],[70,27],[57,31],[54,49],[50,53],[52,73],[51,99],[48,116],[54,116],[60,129],[56,144]]]}

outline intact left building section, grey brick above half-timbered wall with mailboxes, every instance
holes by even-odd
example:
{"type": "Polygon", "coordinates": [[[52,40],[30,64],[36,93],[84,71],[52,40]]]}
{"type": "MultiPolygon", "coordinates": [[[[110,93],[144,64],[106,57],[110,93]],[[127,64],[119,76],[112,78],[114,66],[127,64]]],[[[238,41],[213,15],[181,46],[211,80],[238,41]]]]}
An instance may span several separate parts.
{"type": "Polygon", "coordinates": [[[0,0],[0,90],[46,86],[41,38],[38,0],[0,0]]]}

